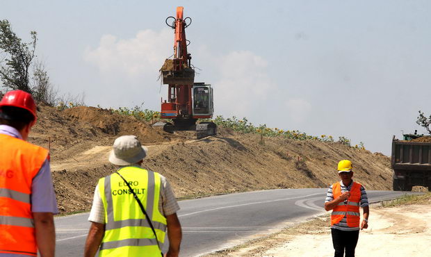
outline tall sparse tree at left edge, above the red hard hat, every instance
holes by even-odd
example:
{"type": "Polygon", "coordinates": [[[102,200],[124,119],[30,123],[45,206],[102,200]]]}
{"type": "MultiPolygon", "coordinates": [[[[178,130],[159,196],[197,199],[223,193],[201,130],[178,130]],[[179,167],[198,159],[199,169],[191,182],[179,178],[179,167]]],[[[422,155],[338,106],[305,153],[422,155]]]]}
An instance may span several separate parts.
{"type": "Polygon", "coordinates": [[[30,86],[30,66],[35,57],[37,33],[30,32],[31,42],[22,42],[10,28],[7,19],[0,20],[0,49],[3,58],[0,63],[0,78],[3,85],[11,90],[24,90],[33,93],[30,86]]]}

